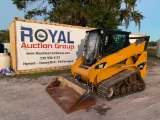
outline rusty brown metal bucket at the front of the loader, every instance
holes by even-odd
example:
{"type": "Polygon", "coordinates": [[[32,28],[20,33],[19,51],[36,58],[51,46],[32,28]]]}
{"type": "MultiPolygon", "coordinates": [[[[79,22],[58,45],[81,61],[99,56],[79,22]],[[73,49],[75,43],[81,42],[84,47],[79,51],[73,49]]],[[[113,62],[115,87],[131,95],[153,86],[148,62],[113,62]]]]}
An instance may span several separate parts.
{"type": "Polygon", "coordinates": [[[96,104],[92,91],[70,75],[57,77],[46,87],[46,92],[66,113],[96,104]]]}

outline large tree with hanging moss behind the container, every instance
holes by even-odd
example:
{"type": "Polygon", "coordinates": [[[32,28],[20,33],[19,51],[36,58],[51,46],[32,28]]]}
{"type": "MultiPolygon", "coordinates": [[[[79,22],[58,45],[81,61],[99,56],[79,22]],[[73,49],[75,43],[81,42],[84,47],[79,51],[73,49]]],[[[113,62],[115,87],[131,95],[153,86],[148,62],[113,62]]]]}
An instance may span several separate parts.
{"type": "Polygon", "coordinates": [[[12,0],[25,18],[88,27],[117,29],[131,21],[140,28],[144,16],[136,11],[137,0],[12,0]]]}

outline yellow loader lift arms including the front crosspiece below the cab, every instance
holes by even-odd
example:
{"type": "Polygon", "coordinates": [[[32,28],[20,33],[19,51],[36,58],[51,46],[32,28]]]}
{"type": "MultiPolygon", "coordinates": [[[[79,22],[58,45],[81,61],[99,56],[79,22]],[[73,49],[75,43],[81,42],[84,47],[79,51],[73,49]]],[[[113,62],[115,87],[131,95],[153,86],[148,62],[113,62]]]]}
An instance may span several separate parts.
{"type": "MultiPolygon", "coordinates": [[[[141,42],[140,44],[132,43],[129,46],[110,54],[95,64],[93,64],[91,67],[86,66],[86,68],[82,67],[81,64],[83,63],[82,57],[75,62],[75,64],[72,66],[72,76],[75,76],[76,74],[81,75],[81,78],[85,81],[94,83],[97,75],[104,69],[116,65],[117,63],[124,61],[132,56],[142,54],[144,52],[145,48],[145,41],[141,42]]],[[[145,54],[144,58],[146,61],[147,55],[145,54]]],[[[143,61],[144,62],[144,61],[143,61]]],[[[132,66],[136,66],[136,64],[131,64],[132,66]]],[[[124,65],[123,65],[124,66],[124,65]]],[[[97,86],[97,85],[95,85],[97,86]]]]}

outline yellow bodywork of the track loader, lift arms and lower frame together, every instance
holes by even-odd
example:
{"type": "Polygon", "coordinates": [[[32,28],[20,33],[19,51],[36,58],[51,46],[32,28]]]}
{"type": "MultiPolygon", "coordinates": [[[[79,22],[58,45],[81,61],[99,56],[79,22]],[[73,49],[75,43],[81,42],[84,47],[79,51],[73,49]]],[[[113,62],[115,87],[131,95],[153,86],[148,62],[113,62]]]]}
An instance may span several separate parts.
{"type": "Polygon", "coordinates": [[[82,56],[73,64],[71,69],[72,76],[80,74],[82,79],[85,80],[85,82],[91,82],[95,87],[97,87],[98,84],[104,79],[110,78],[114,74],[124,69],[136,71],[141,75],[142,78],[144,78],[146,76],[146,64],[143,70],[139,70],[137,68],[140,63],[147,61],[147,52],[144,51],[144,46],[145,41],[138,45],[136,45],[136,43],[131,43],[128,47],[104,57],[91,67],[86,66],[87,69],[79,67],[83,62],[82,56]],[[137,55],[139,55],[139,58],[136,63],[134,63],[131,56],[137,57],[137,55]],[[125,64],[117,64],[125,59],[127,59],[125,64]],[[100,65],[104,62],[107,62],[104,68],[95,69],[97,65],[100,65]]]}

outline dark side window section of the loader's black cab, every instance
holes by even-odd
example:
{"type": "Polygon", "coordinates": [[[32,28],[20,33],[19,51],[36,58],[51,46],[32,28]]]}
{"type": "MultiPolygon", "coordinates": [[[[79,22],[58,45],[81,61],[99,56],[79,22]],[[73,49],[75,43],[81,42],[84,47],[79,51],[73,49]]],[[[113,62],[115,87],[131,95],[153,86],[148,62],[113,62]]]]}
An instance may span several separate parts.
{"type": "Polygon", "coordinates": [[[113,54],[130,45],[129,42],[130,32],[118,30],[104,30],[102,50],[100,51],[101,57],[113,54]]]}

